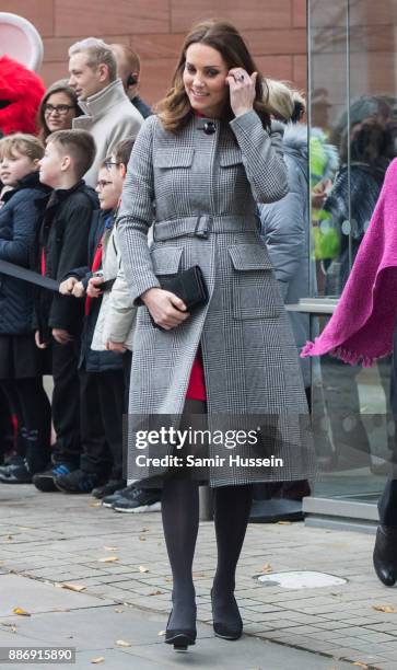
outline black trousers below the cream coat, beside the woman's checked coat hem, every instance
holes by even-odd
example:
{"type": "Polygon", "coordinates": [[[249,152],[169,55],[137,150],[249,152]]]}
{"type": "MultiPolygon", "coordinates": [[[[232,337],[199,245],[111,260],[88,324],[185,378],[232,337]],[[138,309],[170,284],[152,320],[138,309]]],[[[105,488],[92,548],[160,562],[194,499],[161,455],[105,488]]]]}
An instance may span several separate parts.
{"type": "Polygon", "coordinates": [[[122,480],[124,371],[81,370],[80,386],[80,467],[104,478],[122,480]]]}

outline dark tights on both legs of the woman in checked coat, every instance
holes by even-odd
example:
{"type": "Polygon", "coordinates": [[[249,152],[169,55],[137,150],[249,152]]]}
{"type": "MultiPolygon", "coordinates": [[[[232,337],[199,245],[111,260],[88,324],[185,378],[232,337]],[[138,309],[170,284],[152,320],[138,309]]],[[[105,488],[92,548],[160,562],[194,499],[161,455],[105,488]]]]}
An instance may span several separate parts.
{"type": "MultiPolygon", "coordinates": [[[[214,524],[218,565],[213,580],[214,620],[233,624],[238,615],[233,591],[252,505],[252,486],[214,489],[214,524]]],[[[173,613],[170,628],[191,628],[196,622],[192,559],[199,525],[198,484],[189,478],[164,482],[162,516],[173,573],[173,613]]]]}

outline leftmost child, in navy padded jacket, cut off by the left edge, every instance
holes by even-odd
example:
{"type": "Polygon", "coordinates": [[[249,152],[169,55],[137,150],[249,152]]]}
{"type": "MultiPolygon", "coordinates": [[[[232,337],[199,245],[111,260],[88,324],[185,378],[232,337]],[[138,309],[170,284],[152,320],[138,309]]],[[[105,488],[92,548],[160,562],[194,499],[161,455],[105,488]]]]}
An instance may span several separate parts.
{"type": "MultiPolygon", "coordinates": [[[[0,141],[0,177],[5,187],[0,209],[0,261],[26,267],[39,223],[37,205],[50,188],[38,180],[40,141],[15,134],[0,141]]],[[[4,483],[28,483],[49,459],[50,405],[43,388],[45,353],[36,348],[32,326],[33,289],[0,275],[0,388],[17,416],[25,460],[0,469],[4,483]]]]}

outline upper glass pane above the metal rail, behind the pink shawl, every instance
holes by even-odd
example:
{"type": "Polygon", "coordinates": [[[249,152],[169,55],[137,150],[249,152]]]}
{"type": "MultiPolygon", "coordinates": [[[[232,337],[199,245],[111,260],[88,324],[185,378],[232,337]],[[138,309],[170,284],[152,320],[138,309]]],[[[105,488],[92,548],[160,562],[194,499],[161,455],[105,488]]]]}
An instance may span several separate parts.
{"type": "Polygon", "coordinates": [[[339,296],[397,153],[397,2],[311,0],[308,9],[312,286],[339,296]]]}

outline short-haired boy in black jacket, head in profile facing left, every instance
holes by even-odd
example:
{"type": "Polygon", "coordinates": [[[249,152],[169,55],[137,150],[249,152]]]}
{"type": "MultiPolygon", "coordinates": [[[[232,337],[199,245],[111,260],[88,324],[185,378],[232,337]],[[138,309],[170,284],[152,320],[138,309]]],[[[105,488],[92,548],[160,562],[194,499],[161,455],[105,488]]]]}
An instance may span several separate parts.
{"type": "MultiPolygon", "coordinates": [[[[57,281],[72,267],[86,264],[86,241],[98,204],[82,176],[94,157],[95,142],[90,132],[58,130],[47,138],[39,161],[39,180],[54,190],[39,201],[35,269],[57,281]]],[[[39,348],[51,347],[52,421],[57,434],[54,467],[33,477],[39,490],[57,490],[54,476],[71,472],[80,460],[78,357],[82,317],[82,307],[71,298],[46,289],[36,291],[35,339],[39,348]]]]}

